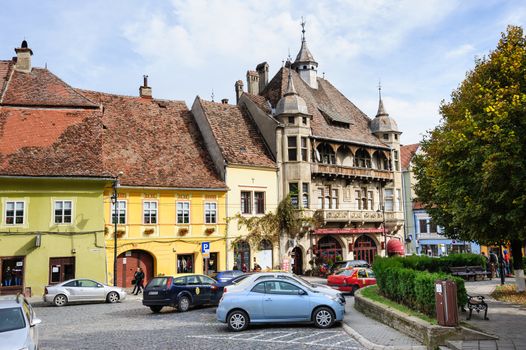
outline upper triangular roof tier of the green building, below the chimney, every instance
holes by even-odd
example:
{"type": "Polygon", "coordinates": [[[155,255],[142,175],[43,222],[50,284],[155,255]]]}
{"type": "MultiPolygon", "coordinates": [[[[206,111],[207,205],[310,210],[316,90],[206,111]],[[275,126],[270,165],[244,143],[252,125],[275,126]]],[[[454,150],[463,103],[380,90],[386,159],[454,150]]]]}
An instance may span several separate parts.
{"type": "MultiPolygon", "coordinates": [[[[1,70],[0,68],[0,72],[1,70]]],[[[30,73],[15,70],[1,104],[38,107],[99,107],[49,70],[43,68],[33,68],[30,73]]]]}

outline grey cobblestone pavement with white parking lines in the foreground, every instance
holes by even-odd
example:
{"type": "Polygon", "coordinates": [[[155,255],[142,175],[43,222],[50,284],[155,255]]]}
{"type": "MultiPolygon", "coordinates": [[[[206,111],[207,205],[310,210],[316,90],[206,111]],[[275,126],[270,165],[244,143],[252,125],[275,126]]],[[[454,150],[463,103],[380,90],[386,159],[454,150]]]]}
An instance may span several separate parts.
{"type": "Polygon", "coordinates": [[[153,314],[133,296],[117,304],[35,307],[41,349],[364,349],[341,326],[253,326],[229,332],[215,307],[153,314]]]}

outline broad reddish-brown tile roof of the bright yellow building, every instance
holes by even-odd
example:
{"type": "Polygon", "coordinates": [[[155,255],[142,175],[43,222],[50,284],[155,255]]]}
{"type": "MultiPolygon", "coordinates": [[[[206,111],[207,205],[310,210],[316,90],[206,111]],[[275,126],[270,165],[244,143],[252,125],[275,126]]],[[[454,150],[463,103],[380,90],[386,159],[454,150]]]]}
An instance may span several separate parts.
{"type": "Polygon", "coordinates": [[[123,185],[226,188],[184,102],[78,91],[104,106],[104,169],[123,185]]]}

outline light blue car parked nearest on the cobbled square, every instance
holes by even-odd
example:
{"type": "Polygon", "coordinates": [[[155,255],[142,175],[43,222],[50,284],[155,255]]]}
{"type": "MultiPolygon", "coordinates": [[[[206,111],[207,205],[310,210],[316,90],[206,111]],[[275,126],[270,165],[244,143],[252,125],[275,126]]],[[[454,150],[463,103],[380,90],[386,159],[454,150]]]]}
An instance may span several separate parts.
{"type": "Polygon", "coordinates": [[[227,287],[216,311],[217,320],[232,331],[245,330],[251,323],[309,322],[318,328],[330,328],[345,314],[345,304],[338,296],[291,280],[259,279],[242,287],[227,287]]]}

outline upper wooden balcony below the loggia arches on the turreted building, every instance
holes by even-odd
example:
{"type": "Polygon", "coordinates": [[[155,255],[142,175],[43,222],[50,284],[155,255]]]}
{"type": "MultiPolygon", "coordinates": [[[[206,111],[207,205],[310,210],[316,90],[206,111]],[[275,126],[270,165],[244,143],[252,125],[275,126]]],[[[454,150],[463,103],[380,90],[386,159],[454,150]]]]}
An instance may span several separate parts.
{"type": "Polygon", "coordinates": [[[388,170],[353,168],[320,163],[311,164],[311,172],[313,175],[322,177],[339,177],[343,179],[374,180],[381,182],[390,182],[393,181],[394,178],[393,172],[388,170]]]}

